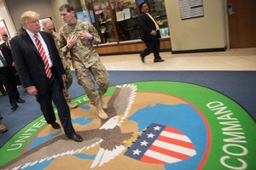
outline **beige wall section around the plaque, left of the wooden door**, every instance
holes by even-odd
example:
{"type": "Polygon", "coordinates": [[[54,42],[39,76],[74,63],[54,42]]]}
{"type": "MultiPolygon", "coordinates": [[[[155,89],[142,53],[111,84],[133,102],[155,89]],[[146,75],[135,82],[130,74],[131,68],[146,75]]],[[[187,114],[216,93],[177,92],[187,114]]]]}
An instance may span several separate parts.
{"type": "Polygon", "coordinates": [[[179,0],[166,0],[172,50],[224,48],[227,45],[223,0],[203,0],[204,17],[181,20],[179,0]]]}

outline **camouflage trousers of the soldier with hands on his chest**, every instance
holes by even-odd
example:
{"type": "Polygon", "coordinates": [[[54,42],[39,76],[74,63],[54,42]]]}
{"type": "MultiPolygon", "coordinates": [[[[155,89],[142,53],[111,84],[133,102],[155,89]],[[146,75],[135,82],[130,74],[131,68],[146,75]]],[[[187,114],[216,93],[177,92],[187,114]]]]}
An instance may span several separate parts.
{"type": "Polygon", "coordinates": [[[101,60],[98,60],[90,68],[75,68],[76,76],[81,85],[84,88],[85,94],[90,99],[91,105],[99,105],[98,94],[103,95],[108,91],[109,75],[108,71],[102,65],[101,60]],[[98,85],[98,94],[96,94],[95,82],[98,85]]]}

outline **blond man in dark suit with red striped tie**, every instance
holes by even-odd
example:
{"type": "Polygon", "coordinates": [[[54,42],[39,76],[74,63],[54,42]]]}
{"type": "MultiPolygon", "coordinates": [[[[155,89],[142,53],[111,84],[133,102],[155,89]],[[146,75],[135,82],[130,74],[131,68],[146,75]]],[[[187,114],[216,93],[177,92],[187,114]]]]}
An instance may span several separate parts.
{"type": "Polygon", "coordinates": [[[23,87],[28,94],[36,96],[46,122],[55,129],[60,128],[55,122],[53,101],[67,137],[77,142],[83,141],[73,129],[70,111],[62,93],[65,73],[53,37],[40,31],[39,14],[33,11],[21,15],[21,26],[26,31],[14,37],[11,46],[23,87]]]}

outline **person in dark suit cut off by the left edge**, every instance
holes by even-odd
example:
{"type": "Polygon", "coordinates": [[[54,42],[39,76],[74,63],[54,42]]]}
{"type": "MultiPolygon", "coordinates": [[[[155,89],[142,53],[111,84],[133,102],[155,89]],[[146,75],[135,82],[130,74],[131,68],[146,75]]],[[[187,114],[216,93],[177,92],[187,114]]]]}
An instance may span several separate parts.
{"type": "Polygon", "coordinates": [[[9,104],[11,105],[11,110],[16,111],[19,107],[17,103],[24,103],[25,100],[20,98],[20,93],[17,89],[17,83],[15,79],[15,74],[10,69],[10,64],[8,58],[5,58],[2,53],[2,48],[0,49],[0,81],[3,83],[5,90],[9,97],[9,104]]]}

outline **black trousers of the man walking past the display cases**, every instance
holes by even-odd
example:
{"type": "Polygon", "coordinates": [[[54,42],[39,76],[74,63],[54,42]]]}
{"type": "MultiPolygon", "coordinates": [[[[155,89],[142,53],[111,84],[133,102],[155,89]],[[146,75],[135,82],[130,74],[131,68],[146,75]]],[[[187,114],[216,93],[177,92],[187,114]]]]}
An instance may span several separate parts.
{"type": "Polygon", "coordinates": [[[150,53],[154,53],[154,59],[161,59],[160,57],[160,39],[158,37],[155,37],[154,39],[150,40],[143,40],[143,42],[146,44],[146,47],[144,51],[141,53],[142,56],[147,56],[150,53]]]}

